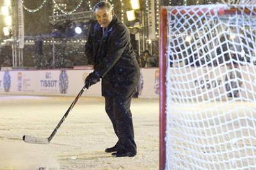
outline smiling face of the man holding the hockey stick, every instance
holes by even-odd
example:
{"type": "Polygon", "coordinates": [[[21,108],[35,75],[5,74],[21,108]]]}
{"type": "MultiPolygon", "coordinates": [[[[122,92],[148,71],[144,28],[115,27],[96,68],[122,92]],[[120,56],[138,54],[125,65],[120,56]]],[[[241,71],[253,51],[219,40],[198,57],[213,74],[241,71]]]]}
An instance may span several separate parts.
{"type": "Polygon", "coordinates": [[[108,10],[108,8],[102,8],[95,11],[97,21],[99,24],[106,28],[113,19],[113,10],[108,10]]]}

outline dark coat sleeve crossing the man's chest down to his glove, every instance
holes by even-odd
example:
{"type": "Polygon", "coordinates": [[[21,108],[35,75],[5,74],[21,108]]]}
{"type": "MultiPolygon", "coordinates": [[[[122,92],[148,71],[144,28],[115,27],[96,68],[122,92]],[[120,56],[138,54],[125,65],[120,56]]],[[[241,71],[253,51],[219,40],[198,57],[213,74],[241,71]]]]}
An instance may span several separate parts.
{"type": "Polygon", "coordinates": [[[95,67],[95,71],[99,73],[100,78],[104,77],[115,66],[122,53],[124,53],[125,48],[129,45],[129,33],[125,27],[113,31],[113,34],[115,35],[111,38],[111,44],[108,46],[106,57],[95,67]]]}

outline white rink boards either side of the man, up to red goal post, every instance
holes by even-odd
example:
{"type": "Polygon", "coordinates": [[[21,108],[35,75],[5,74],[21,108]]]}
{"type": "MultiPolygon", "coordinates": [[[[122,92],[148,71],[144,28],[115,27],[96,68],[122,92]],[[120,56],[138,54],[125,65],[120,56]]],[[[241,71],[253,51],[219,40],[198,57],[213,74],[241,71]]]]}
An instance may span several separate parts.
{"type": "MultiPolygon", "coordinates": [[[[33,71],[0,71],[0,92],[76,96],[92,69],[50,69],[33,71]]],[[[141,69],[140,97],[157,98],[158,69],[141,69]],[[143,85],[141,86],[141,83],[143,85]]],[[[101,96],[100,83],[84,92],[84,96],[101,96]]]]}

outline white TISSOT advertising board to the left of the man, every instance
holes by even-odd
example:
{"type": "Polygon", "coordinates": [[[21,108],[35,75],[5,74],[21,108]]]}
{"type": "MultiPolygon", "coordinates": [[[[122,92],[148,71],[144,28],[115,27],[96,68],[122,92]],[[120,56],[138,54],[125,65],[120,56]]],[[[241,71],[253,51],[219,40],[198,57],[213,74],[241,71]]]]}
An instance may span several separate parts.
{"type": "MultiPolygon", "coordinates": [[[[92,70],[0,71],[0,92],[76,96],[92,70]]],[[[101,96],[100,82],[86,96],[101,96]]]]}

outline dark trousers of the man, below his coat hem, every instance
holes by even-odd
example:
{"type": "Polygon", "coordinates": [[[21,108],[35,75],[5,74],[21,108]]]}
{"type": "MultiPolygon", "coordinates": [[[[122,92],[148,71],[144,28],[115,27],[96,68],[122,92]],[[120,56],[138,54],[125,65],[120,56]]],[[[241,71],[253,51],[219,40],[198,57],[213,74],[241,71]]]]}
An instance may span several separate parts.
{"type": "Polygon", "coordinates": [[[132,91],[120,96],[104,96],[105,110],[118,137],[118,142],[116,143],[118,152],[136,152],[130,110],[133,93],[132,91]]]}

